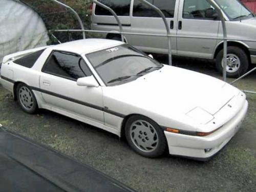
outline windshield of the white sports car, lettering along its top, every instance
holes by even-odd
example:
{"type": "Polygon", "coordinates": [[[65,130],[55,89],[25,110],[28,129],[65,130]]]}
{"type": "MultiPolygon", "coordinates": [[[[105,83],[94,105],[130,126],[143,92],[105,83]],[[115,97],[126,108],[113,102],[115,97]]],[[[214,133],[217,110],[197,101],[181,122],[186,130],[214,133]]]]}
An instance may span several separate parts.
{"type": "Polygon", "coordinates": [[[107,86],[135,80],[163,66],[127,44],[89,53],[86,57],[107,86]]]}

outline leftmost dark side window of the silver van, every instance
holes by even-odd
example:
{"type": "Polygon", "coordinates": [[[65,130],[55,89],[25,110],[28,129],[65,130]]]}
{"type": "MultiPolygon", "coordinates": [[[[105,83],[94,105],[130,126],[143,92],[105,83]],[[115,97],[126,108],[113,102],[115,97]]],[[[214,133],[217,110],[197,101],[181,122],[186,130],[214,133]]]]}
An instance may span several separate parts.
{"type": "MultiPolygon", "coordinates": [[[[131,0],[98,0],[98,2],[110,7],[113,9],[118,16],[129,16],[130,15],[130,6],[131,0]]],[[[112,15],[106,9],[103,9],[96,5],[95,7],[96,15],[112,15]]]]}

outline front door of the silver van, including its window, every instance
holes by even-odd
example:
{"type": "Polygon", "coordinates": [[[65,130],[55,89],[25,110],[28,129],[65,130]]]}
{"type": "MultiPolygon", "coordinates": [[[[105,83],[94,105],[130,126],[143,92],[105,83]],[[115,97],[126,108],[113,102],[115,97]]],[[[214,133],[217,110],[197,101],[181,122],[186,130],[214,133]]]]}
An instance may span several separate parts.
{"type": "Polygon", "coordinates": [[[215,12],[207,0],[181,0],[178,16],[177,53],[181,56],[212,58],[216,39],[200,39],[193,36],[217,37],[220,20],[209,16],[209,11],[215,12]]]}

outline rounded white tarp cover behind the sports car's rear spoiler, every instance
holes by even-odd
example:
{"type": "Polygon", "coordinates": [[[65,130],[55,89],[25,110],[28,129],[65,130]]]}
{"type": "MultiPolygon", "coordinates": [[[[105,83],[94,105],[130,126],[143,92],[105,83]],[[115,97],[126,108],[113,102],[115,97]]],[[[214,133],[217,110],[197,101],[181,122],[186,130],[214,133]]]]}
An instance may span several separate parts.
{"type": "Polygon", "coordinates": [[[0,0],[0,62],[5,55],[46,46],[47,29],[39,15],[23,3],[0,0]]]}

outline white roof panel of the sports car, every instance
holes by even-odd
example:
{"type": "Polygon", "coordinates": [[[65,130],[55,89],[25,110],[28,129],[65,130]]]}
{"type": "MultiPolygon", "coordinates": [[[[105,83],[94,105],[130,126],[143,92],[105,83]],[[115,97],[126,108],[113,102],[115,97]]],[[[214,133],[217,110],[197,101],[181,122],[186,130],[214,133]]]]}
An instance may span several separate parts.
{"type": "Polygon", "coordinates": [[[51,49],[67,51],[81,55],[118,46],[121,44],[124,44],[124,42],[110,39],[89,38],[65,42],[63,44],[52,46],[51,49]]]}

